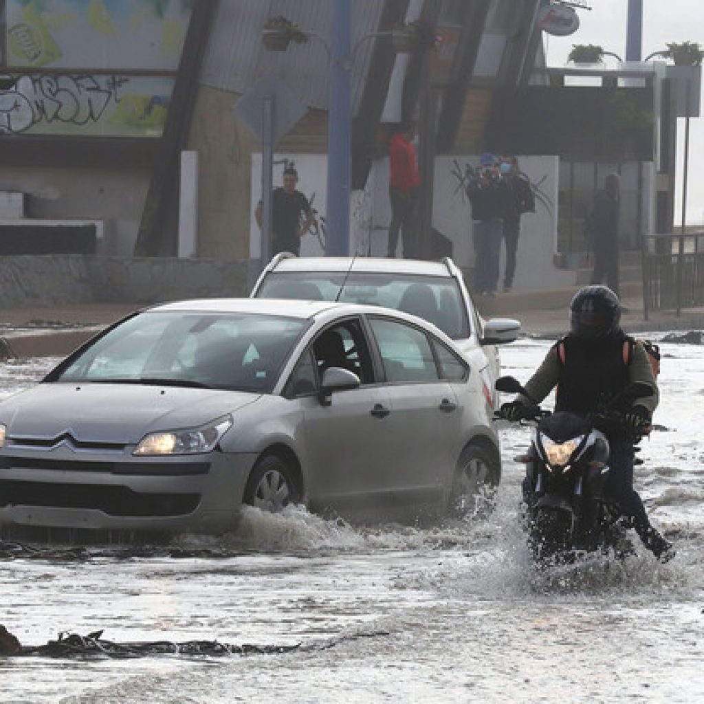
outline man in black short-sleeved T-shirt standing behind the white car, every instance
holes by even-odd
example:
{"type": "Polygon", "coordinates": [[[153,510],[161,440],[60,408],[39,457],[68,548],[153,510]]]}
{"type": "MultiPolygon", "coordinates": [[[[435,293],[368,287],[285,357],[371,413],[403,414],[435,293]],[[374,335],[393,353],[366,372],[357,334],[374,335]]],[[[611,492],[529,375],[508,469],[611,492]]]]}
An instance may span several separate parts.
{"type": "MultiPolygon", "coordinates": [[[[298,172],[293,166],[284,168],[284,187],[275,188],[272,194],[271,253],[291,252],[298,256],[301,237],[315,221],[315,211],[301,191],[296,191],[298,172]],[[303,225],[301,225],[301,217],[303,225]]],[[[257,225],[262,226],[262,202],[254,211],[257,225]]]]}

